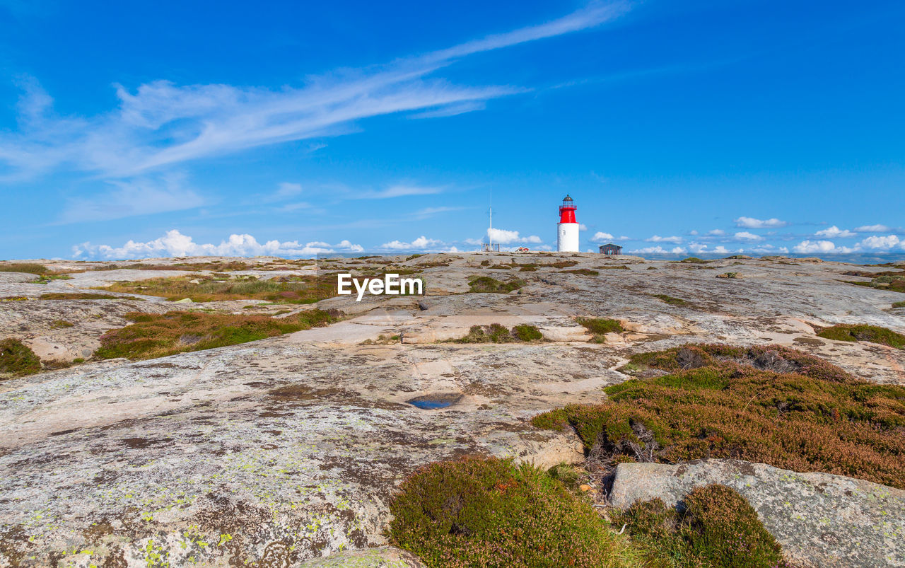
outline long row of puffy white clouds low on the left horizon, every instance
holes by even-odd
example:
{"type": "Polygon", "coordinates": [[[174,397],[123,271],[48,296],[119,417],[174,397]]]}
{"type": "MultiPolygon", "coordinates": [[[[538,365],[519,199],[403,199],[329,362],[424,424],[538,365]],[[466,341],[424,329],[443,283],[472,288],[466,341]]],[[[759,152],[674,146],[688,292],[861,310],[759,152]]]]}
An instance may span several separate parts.
{"type": "Polygon", "coordinates": [[[195,243],[191,236],[183,235],[176,229],[167,231],[165,236],[137,243],[129,240],[122,246],[91,245],[82,243],[72,246],[74,258],[151,258],[163,256],[255,256],[255,255],[282,255],[282,256],[310,256],[322,253],[335,253],[338,251],[360,253],[365,249],[361,245],[353,245],[348,240],[343,240],[337,245],[329,245],[319,241],[313,241],[304,245],[298,241],[267,241],[259,243],[251,235],[230,235],[219,245],[195,243]]]}

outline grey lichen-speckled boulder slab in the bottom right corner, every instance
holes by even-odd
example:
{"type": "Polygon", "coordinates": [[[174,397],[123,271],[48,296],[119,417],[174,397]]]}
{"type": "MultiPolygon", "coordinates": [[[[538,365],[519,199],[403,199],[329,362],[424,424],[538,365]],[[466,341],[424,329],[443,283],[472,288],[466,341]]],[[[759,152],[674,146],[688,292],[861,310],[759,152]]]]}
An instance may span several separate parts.
{"type": "Polygon", "coordinates": [[[795,565],[905,566],[905,491],[852,477],[797,473],[734,459],[619,464],[611,502],[676,505],[696,486],[732,487],[795,565]]]}

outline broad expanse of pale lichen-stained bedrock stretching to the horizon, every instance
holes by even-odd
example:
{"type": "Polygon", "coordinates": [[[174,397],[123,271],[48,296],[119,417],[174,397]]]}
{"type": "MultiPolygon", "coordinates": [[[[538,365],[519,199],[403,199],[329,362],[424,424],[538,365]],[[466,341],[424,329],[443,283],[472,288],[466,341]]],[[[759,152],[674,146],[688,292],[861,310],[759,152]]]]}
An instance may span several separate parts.
{"type": "MultiPolygon", "coordinates": [[[[234,259],[153,264],[218,260],[234,259]]],[[[243,259],[249,266],[233,274],[357,274],[386,260],[243,259]]],[[[94,288],[115,281],[213,272],[204,270],[41,261],[80,271],[47,284],[33,274],[0,272],[0,339],[23,340],[48,369],[86,361],[0,381],[0,567],[338,565],[314,560],[337,553],[383,558],[373,565],[414,565],[391,549],[344,552],[386,544],[387,502],[406,474],[469,453],[544,466],[580,460],[575,438],[532,428],[528,419],[600,400],[602,387],[628,379],[616,369],[639,351],[686,342],[778,343],[865,380],[905,384],[905,351],[815,336],[833,323],[905,332],[905,308],[892,307],[905,294],[846,283],[869,281],[844,275],[851,265],[586,254],[389,260],[421,274],[426,295],[366,295],[360,303],[334,297],[317,304],[346,314],[329,327],[134,362],[91,360],[104,332],[129,323],[125,313],[288,316],[312,306],[175,303],[140,294],[40,299],[102,293],[94,288]],[[549,266],[561,261],[576,264],[549,266]],[[513,263],[538,267],[519,271],[513,263]],[[599,274],[565,272],[582,268],[599,274]],[[738,277],[716,277],[725,273],[738,277]],[[509,294],[469,293],[469,278],[479,275],[526,284],[509,294]],[[626,331],[588,342],[576,317],[617,319],[626,331]],[[444,342],[490,323],[534,324],[549,341],[444,342]],[[420,409],[410,403],[417,399],[451,404],[420,409]]],[[[900,494],[891,494],[897,514],[900,494]]]]}

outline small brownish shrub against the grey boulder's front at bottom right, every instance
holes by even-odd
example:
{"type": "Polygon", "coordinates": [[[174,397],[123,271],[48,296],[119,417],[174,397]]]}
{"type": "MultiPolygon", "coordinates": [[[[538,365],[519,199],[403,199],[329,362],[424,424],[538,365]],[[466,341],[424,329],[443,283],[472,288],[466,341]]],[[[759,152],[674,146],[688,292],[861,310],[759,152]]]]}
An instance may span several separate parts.
{"type": "Polygon", "coordinates": [[[745,497],[727,486],[695,487],[681,513],[660,499],[636,502],[615,519],[635,544],[649,551],[649,565],[698,568],[780,568],[782,549],[745,497]]]}

